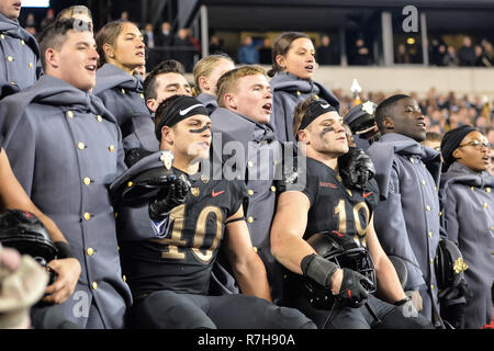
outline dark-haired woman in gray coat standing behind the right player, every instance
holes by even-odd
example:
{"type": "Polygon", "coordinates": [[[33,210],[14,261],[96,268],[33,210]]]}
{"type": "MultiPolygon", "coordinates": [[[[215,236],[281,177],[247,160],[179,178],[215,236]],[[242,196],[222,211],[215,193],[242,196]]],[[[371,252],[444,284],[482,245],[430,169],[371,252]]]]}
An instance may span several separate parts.
{"type": "Polygon", "coordinates": [[[295,106],[311,95],[317,95],[339,112],[338,99],[312,77],[317,64],[311,38],[297,32],[280,34],[272,47],[271,79],[273,106],[271,124],[280,141],[295,141],[293,112],[295,106]]]}

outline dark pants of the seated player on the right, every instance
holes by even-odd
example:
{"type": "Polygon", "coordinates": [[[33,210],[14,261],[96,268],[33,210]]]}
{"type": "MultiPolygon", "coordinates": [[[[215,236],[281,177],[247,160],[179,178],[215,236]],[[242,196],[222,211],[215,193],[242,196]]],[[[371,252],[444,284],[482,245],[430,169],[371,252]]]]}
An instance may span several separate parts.
{"type": "Polygon", "coordinates": [[[409,310],[408,305],[394,306],[373,295],[369,296],[367,306],[359,308],[316,309],[303,295],[294,298],[292,306],[314,320],[319,329],[434,329],[429,320],[409,310]]]}

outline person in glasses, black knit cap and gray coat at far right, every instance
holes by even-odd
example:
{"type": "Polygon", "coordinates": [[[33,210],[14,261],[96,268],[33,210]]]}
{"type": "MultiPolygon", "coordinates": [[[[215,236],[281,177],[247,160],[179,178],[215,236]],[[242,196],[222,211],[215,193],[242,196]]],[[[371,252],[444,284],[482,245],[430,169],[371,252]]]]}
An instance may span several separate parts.
{"type": "Polygon", "coordinates": [[[494,280],[494,177],[487,172],[489,141],[465,125],[445,134],[441,152],[446,230],[468,264],[464,276],[473,293],[464,305],[464,328],[480,329],[492,319],[494,280]]]}

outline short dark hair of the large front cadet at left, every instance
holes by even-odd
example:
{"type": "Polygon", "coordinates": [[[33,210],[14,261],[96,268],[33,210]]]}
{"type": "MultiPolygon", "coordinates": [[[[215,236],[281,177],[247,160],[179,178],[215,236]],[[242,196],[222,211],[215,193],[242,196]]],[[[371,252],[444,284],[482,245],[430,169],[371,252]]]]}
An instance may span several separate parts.
{"type": "Polygon", "coordinates": [[[55,21],[40,37],[40,54],[43,68],[46,69],[46,50],[54,48],[59,50],[68,31],[91,32],[90,24],[77,19],[61,19],[55,21]]]}

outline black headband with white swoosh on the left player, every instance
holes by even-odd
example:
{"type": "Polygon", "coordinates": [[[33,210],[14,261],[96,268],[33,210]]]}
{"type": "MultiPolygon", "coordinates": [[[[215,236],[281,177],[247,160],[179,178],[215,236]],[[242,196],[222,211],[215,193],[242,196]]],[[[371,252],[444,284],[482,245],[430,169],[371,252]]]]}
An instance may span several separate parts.
{"type": "Polygon", "coordinates": [[[207,109],[198,99],[180,97],[165,107],[159,129],[164,126],[172,127],[180,121],[197,114],[210,115],[207,109]]]}

